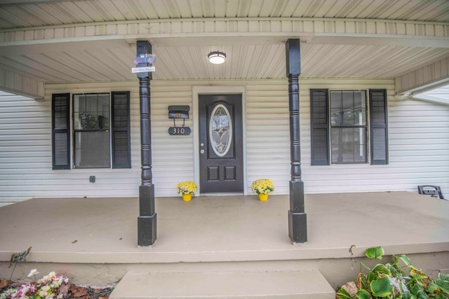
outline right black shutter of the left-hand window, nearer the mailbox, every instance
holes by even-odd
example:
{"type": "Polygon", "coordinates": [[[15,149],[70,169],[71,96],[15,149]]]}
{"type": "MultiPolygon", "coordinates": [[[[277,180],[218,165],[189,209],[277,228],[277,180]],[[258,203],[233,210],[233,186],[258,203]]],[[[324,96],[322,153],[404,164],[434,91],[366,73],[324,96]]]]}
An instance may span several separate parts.
{"type": "Polygon", "coordinates": [[[112,168],[131,168],[129,92],[112,92],[112,168]]]}

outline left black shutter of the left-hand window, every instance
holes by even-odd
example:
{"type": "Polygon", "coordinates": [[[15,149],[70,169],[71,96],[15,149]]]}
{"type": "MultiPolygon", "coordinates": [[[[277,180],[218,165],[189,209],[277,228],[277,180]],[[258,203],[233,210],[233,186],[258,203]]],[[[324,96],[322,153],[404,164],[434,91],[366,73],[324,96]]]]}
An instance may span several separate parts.
{"type": "Polygon", "coordinates": [[[53,169],[70,169],[70,94],[55,94],[51,99],[53,169]]]}

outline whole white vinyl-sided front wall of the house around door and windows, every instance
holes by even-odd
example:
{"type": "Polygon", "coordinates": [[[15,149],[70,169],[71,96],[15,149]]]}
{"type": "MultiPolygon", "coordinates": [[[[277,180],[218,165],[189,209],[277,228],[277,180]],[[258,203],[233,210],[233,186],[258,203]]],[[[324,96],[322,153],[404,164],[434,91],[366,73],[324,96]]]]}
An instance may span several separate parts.
{"type": "MultiPolygon", "coordinates": [[[[274,194],[288,194],[290,132],[288,81],[152,81],[152,174],[156,197],[179,196],[176,184],[194,179],[193,86],[244,86],[246,192],[255,179],[271,179],[274,194]],[[168,106],[189,105],[186,136],[171,136],[168,106]]],[[[393,80],[300,80],[302,179],[305,193],[408,190],[441,186],[449,195],[449,106],[397,100],[393,80]],[[386,88],[389,165],[310,164],[311,88],[386,88]]],[[[177,120],[180,125],[180,120],[177,120]]],[[[44,101],[0,99],[0,205],[32,197],[138,197],[140,186],[140,99],[138,81],[48,84],[44,101]],[[53,170],[51,96],[70,92],[130,91],[132,169],[53,170]],[[95,176],[95,183],[89,183],[95,176]]]]}

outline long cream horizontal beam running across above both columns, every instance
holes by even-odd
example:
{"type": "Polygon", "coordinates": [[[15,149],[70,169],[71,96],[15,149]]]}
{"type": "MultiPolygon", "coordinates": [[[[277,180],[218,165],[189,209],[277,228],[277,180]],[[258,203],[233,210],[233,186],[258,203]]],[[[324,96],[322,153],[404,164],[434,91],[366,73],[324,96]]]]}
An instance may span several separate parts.
{"type": "MultiPolygon", "coordinates": [[[[399,20],[364,20],[335,18],[215,18],[138,20],[29,27],[0,30],[0,46],[25,46],[32,43],[125,39],[203,38],[216,44],[227,37],[251,37],[270,42],[288,38],[310,43],[370,43],[427,47],[448,47],[449,24],[446,22],[411,22],[399,20]],[[267,39],[268,37],[268,39],[267,39]],[[387,39],[386,41],[382,41],[387,39]]],[[[168,43],[168,41],[163,41],[168,43]]],[[[180,41],[174,41],[179,43],[180,41]]],[[[204,41],[203,41],[204,42],[204,41]]],[[[229,43],[229,41],[221,41],[229,43]]]]}

